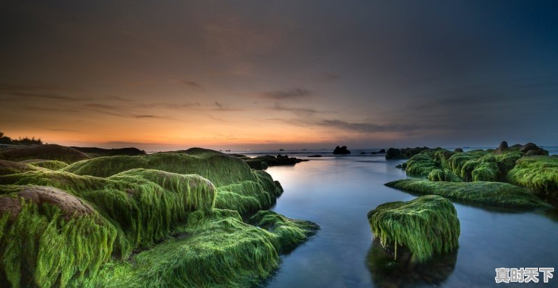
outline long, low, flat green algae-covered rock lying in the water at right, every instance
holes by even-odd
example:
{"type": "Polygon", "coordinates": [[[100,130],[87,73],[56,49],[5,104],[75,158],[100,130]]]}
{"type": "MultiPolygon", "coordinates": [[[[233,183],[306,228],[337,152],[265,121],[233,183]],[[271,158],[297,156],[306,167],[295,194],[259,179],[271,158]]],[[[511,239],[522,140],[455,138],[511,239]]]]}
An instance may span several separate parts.
{"type": "Polygon", "coordinates": [[[550,208],[527,190],[502,182],[441,182],[423,179],[401,179],[386,186],[419,195],[440,195],[469,204],[500,206],[513,209],[550,208]]]}

